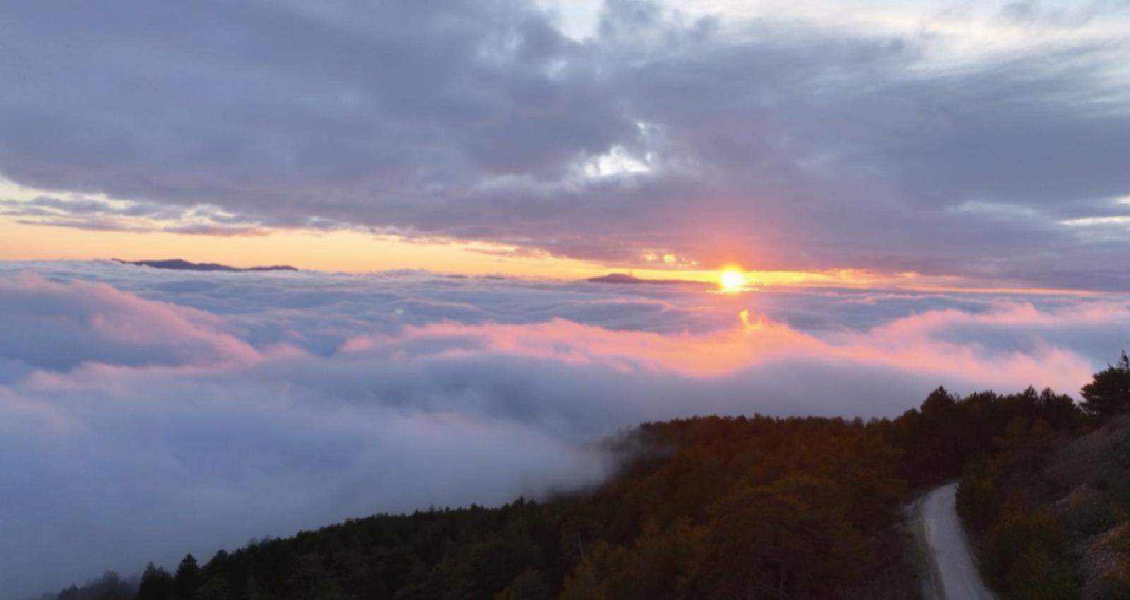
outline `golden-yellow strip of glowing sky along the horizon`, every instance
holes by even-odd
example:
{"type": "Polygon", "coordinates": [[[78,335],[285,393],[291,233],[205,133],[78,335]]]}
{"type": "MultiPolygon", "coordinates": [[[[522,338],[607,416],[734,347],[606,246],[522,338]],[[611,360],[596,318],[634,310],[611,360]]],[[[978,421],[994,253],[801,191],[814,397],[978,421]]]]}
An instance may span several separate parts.
{"type": "Polygon", "coordinates": [[[290,264],[299,269],[372,272],[423,269],[440,273],[585,279],[610,272],[640,279],[713,284],[722,292],[757,287],[886,287],[923,290],[1087,293],[1085,290],[977,286],[957,277],[861,269],[742,270],[687,266],[603,263],[555,256],[515,245],[379,235],[356,229],[269,229],[255,236],[189,235],[163,231],[93,231],[20,223],[0,217],[0,260],[184,259],[233,267],[290,264]],[[733,271],[733,275],[727,275],[733,271]],[[725,285],[723,278],[731,281],[725,285]],[[740,279],[740,281],[739,281],[740,279]]]}

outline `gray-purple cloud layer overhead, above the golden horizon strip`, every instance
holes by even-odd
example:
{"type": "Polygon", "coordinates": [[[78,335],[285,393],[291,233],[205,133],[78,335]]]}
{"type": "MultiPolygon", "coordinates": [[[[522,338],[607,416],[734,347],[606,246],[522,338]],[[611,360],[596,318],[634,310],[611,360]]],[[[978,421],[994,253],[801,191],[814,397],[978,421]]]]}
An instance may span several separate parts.
{"type": "Polygon", "coordinates": [[[609,0],[579,40],[511,0],[8,2],[0,174],[76,195],[72,215],[7,209],[64,226],[123,227],[82,199],[105,192],[240,221],[200,234],[377,227],[1125,290],[1125,7],[879,28],[609,0]]]}

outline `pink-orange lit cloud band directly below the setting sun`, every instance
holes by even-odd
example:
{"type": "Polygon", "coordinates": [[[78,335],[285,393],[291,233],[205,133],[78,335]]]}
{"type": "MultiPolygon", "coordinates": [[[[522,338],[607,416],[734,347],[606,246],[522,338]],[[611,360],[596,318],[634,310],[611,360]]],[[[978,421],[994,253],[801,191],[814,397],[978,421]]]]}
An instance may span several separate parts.
{"type": "MultiPolygon", "coordinates": [[[[1036,385],[1074,393],[1094,371],[1074,349],[1038,337],[1024,350],[998,349],[975,336],[954,339],[951,330],[970,325],[1072,328],[1112,320],[1130,323],[1130,312],[1115,304],[1042,312],[1027,303],[1002,303],[981,314],[927,311],[866,332],[826,338],[745,312],[734,319],[732,328],[706,334],[619,331],[560,319],[532,324],[443,322],[409,328],[398,336],[355,338],[344,350],[383,349],[392,359],[421,354],[454,357],[499,353],[692,377],[724,377],[770,363],[807,360],[812,363],[814,372],[819,371],[817,364],[859,365],[922,375],[939,383],[954,382],[957,386],[1017,390],[1036,385]]],[[[1033,334],[1038,336],[1038,331],[1033,334]]]]}

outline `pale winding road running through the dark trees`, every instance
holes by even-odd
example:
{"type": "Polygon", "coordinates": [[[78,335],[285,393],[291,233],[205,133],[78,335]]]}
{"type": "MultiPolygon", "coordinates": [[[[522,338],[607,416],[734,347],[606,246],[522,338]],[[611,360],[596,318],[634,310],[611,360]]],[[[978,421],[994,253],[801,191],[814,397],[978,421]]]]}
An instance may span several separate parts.
{"type": "Polygon", "coordinates": [[[929,563],[930,600],[997,600],[977,572],[954,498],[957,484],[931,490],[911,505],[911,525],[929,563]]]}

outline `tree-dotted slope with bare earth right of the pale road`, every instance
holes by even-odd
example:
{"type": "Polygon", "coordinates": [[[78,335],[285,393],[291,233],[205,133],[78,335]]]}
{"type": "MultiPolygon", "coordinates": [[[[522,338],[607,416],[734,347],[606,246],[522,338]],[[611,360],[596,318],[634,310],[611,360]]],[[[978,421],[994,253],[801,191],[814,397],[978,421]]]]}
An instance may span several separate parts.
{"type": "Polygon", "coordinates": [[[1130,358],[1081,395],[1074,428],[1017,420],[962,477],[982,572],[1010,600],[1130,598],[1130,358]]]}

